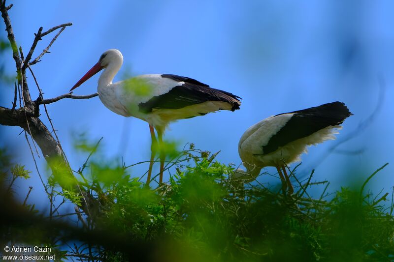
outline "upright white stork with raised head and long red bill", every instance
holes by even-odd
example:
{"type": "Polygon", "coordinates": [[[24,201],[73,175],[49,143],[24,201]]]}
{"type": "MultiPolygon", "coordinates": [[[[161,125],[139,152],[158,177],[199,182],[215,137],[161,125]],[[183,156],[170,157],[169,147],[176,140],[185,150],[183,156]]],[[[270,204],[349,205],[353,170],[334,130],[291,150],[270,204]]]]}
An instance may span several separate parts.
{"type": "MultiPolygon", "coordinates": [[[[140,75],[112,83],[123,64],[119,50],[105,51],[97,62],[71,89],[79,87],[104,69],[99,77],[97,91],[101,102],[121,116],[134,116],[149,123],[152,138],[147,185],[151,179],[156,155],[156,129],[159,148],[163,148],[163,133],[169,122],[194,116],[204,116],[218,110],[237,110],[239,96],[214,89],[197,80],[169,74],[140,75]]],[[[163,182],[164,151],[160,150],[160,176],[163,182]]]]}

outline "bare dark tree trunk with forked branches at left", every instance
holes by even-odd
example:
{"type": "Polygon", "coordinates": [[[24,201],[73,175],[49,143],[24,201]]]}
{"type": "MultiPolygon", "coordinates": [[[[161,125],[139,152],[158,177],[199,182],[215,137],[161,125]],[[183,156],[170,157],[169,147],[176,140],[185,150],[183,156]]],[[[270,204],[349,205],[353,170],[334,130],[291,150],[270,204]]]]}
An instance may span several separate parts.
{"type": "MultiPolygon", "coordinates": [[[[51,28],[44,33],[41,33],[42,29],[40,28],[34,37],[33,45],[28,55],[26,56],[26,59],[23,59],[22,49],[19,50],[20,53],[18,52],[18,47],[16,44],[15,36],[11,27],[11,21],[8,16],[7,10],[8,10],[7,7],[5,7],[5,1],[0,0],[1,17],[4,19],[4,24],[7,31],[7,37],[11,44],[12,54],[16,64],[17,79],[18,79],[17,87],[21,87],[22,89],[22,94],[19,93],[19,95],[20,95],[20,100],[23,102],[23,106],[20,104],[20,108],[14,110],[5,107],[0,107],[0,124],[7,126],[22,127],[26,132],[28,132],[29,135],[32,136],[35,143],[40,147],[42,155],[47,160],[54,175],[59,175],[60,173],[62,173],[61,171],[59,171],[58,168],[59,165],[62,165],[65,166],[67,169],[69,169],[68,173],[66,174],[62,173],[62,175],[66,175],[71,179],[75,179],[61,146],[54,139],[51,132],[38,117],[39,116],[38,106],[42,102],[42,96],[40,96],[36,101],[32,101],[29,93],[27,78],[26,78],[26,68],[29,66],[29,60],[32,58],[35,46],[37,42],[41,40],[41,37],[47,35],[48,33],[56,29],[63,28],[66,26],[71,26],[71,23],[62,24],[60,26],[51,28]],[[22,63],[24,64],[23,66],[22,63]]],[[[74,99],[86,99],[97,95],[98,94],[93,94],[89,96],[73,96],[71,94],[67,94],[63,98],[70,96],[70,98],[74,98],[74,99]]],[[[62,97],[58,98],[57,100],[60,99],[62,99],[62,97]]],[[[52,100],[52,102],[55,102],[57,100],[52,100]]],[[[47,103],[50,102],[51,99],[47,100],[47,103]]],[[[86,214],[88,214],[89,217],[92,217],[89,208],[90,206],[94,208],[98,206],[98,204],[96,199],[90,195],[89,191],[85,191],[85,190],[82,191],[77,183],[75,186],[71,186],[72,188],[69,188],[70,187],[69,185],[65,185],[65,184],[60,184],[60,185],[62,187],[66,186],[68,190],[71,189],[76,193],[81,193],[84,199],[84,202],[81,204],[81,208],[85,211],[86,214]]],[[[97,213],[98,212],[95,212],[95,214],[97,213]]]]}

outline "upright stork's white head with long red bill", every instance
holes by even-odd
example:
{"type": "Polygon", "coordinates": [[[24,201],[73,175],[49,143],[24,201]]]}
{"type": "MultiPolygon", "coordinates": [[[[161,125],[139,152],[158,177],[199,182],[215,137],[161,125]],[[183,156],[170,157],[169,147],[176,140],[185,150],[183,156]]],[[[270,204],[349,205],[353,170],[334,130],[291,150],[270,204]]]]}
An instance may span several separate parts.
{"type": "MultiPolygon", "coordinates": [[[[119,50],[109,49],[105,51],[100,56],[99,61],[70,89],[70,91],[82,85],[83,82],[99,73],[103,68],[107,68],[106,71],[110,71],[110,77],[113,79],[122,64],[123,56],[119,50]]],[[[112,79],[110,81],[112,81],[112,79]]]]}

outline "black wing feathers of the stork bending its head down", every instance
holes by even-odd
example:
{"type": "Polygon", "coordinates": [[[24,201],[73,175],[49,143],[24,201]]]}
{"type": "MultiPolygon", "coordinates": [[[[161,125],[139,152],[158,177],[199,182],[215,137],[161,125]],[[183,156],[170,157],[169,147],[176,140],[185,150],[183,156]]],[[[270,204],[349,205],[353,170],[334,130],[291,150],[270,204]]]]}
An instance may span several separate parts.
{"type": "MultiPolygon", "coordinates": [[[[263,146],[264,154],[271,153],[281,146],[296,141],[326,128],[341,124],[348,116],[353,115],[341,102],[332,102],[304,110],[284,114],[294,114],[292,118],[263,146]]],[[[276,116],[279,116],[276,115],[276,116]]]]}

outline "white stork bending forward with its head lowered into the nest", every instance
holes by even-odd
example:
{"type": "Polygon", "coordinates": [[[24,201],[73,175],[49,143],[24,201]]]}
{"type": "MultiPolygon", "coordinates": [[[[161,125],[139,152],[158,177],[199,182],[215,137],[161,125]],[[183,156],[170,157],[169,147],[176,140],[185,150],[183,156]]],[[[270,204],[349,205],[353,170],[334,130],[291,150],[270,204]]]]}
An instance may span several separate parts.
{"type": "Polygon", "coordinates": [[[255,179],[263,167],[276,167],[283,191],[293,186],[286,164],[300,161],[307,146],[335,139],[340,124],[353,115],[341,102],[270,116],[248,128],[238,144],[238,153],[246,171],[237,169],[234,178],[255,179]],[[282,171],[283,170],[283,174],[282,171]]]}

